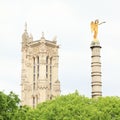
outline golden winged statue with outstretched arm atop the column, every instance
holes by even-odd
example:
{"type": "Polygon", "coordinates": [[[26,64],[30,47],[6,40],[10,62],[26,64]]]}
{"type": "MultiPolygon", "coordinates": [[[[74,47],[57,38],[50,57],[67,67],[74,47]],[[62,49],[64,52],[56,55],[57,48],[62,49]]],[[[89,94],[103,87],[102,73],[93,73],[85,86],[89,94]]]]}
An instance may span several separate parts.
{"type": "Polygon", "coordinates": [[[94,35],[93,35],[93,38],[94,38],[94,41],[97,41],[97,35],[98,35],[98,25],[101,25],[105,22],[101,22],[99,23],[99,20],[95,20],[95,22],[91,22],[91,31],[94,32],[94,35]]]}

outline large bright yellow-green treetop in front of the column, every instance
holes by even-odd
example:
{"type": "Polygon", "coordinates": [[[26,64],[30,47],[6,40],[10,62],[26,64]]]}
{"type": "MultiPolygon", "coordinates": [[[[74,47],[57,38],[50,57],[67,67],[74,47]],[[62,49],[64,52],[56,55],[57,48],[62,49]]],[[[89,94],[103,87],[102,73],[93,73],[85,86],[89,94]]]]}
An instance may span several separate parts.
{"type": "MultiPolygon", "coordinates": [[[[41,103],[35,120],[120,120],[120,98],[87,98],[78,92],[41,103]]],[[[33,119],[33,120],[34,120],[33,119]]]]}

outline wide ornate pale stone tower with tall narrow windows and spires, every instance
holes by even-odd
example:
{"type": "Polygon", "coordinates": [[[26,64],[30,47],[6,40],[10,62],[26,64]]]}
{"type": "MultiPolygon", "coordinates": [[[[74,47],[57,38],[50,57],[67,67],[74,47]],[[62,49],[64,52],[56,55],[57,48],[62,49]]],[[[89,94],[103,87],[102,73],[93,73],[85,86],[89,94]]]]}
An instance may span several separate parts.
{"type": "Polygon", "coordinates": [[[28,35],[27,24],[22,35],[22,105],[35,107],[38,103],[60,95],[58,80],[58,48],[56,39],[49,41],[44,37],[33,41],[28,35]]]}

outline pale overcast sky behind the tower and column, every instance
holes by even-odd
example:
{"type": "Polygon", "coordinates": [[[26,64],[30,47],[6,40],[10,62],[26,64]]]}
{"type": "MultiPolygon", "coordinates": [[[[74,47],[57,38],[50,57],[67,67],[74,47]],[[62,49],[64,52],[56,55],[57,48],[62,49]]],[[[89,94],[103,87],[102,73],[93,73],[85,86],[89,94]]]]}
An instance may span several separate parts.
{"type": "Polygon", "coordinates": [[[119,0],[0,0],[0,90],[20,95],[21,36],[57,36],[61,94],[91,96],[90,22],[99,26],[103,96],[120,96],[119,0]]]}

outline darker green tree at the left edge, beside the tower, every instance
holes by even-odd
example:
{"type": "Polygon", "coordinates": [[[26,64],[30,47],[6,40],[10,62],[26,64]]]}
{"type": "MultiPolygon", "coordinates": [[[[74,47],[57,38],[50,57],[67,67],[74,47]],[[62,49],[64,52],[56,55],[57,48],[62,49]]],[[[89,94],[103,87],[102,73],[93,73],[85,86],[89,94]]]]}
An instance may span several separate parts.
{"type": "Polygon", "coordinates": [[[12,120],[18,109],[20,99],[13,92],[6,95],[0,92],[0,120],[12,120]]]}

